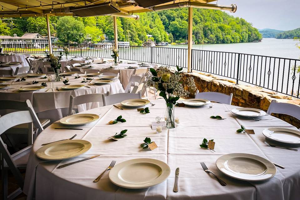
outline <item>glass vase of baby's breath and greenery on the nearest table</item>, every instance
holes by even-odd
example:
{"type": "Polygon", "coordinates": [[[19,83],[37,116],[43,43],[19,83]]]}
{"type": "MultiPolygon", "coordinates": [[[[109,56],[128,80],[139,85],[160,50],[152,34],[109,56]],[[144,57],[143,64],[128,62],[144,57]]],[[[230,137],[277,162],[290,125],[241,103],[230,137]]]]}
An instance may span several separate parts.
{"type": "Polygon", "coordinates": [[[182,69],[176,66],[177,71],[171,70],[168,66],[161,66],[156,70],[150,68],[150,71],[146,74],[146,87],[155,87],[160,91],[159,96],[163,97],[166,101],[166,127],[175,128],[174,107],[176,101],[180,97],[187,97],[189,91],[196,91],[194,79],[188,77],[186,84],[189,91],[183,87],[182,69]]]}

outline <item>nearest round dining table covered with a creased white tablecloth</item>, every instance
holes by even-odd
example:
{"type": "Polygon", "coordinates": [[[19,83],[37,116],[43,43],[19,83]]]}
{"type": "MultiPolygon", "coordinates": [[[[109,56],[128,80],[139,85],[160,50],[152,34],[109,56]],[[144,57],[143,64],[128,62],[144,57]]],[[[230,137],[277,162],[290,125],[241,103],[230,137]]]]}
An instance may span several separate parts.
{"type": "MultiPolygon", "coordinates": [[[[94,108],[81,113],[99,115],[99,119],[83,126],[65,126],[53,123],[40,133],[33,144],[25,176],[23,192],[31,198],[33,194],[39,199],[208,199],[208,200],[296,200],[299,199],[300,187],[300,151],[272,148],[267,146],[262,131],[266,128],[280,127],[297,130],[292,125],[272,116],[272,120],[255,121],[252,118],[242,118],[231,112],[226,112],[237,106],[216,103],[202,107],[175,107],[175,117],[179,122],[173,129],[163,129],[161,133],[152,130],[152,122],[156,117],[163,119],[166,104],[162,99],[148,104],[150,113],[143,114],[137,108],[113,105],[94,108]],[[108,124],[110,120],[122,115],[125,123],[108,124]],[[222,116],[224,120],[210,118],[222,116]],[[246,129],[253,129],[255,134],[238,133],[241,125],[246,129]],[[82,128],[83,130],[55,129],[59,127],[82,128]],[[127,129],[127,137],[118,141],[109,137],[127,129]],[[86,153],[67,160],[49,161],[37,158],[36,152],[41,144],[71,138],[82,139],[92,143],[86,153]],[[149,137],[158,148],[143,149],[140,144],[149,137]],[[214,151],[201,148],[202,140],[214,139],[214,151]],[[230,178],[216,167],[216,160],[228,153],[255,154],[271,162],[285,166],[277,168],[274,177],[259,182],[248,182],[230,178]],[[97,158],[76,163],[65,168],[59,165],[81,160],[91,156],[97,158]],[[126,189],[114,185],[105,173],[99,182],[97,178],[112,162],[119,163],[134,158],[153,158],[167,163],[171,168],[169,178],[152,187],[145,189],[126,189]],[[209,173],[203,171],[204,162],[211,171],[217,174],[226,186],[209,173]],[[173,192],[175,170],[180,168],[178,192],[173,192]]],[[[257,118],[257,119],[259,119],[257,118]]],[[[300,150],[299,146],[292,148],[300,150]]],[[[145,171],[144,173],[147,173],[145,171]]]]}

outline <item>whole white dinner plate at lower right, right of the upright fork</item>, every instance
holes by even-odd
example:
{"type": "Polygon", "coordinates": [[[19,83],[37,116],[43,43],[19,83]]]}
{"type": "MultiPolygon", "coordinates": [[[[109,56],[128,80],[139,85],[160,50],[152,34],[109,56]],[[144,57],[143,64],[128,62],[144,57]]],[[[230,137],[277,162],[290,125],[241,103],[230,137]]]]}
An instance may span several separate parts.
{"type": "Polygon", "coordinates": [[[263,181],[275,176],[275,165],[265,158],[248,153],[229,153],[219,157],[217,168],[227,176],[244,181],[263,181]]]}

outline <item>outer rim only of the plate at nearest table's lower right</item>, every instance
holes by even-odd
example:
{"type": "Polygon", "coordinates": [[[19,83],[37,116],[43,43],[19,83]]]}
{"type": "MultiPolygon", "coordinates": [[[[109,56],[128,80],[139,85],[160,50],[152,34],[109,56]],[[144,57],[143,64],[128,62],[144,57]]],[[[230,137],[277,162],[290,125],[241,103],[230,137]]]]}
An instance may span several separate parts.
{"type": "MultiPolygon", "coordinates": [[[[263,164],[265,164],[265,163],[263,163],[263,164]]],[[[216,166],[225,175],[227,175],[227,176],[229,176],[231,178],[236,178],[236,179],[243,180],[243,181],[264,181],[264,180],[272,178],[277,173],[277,168],[275,167],[275,165],[271,161],[267,160],[266,158],[262,158],[261,156],[257,156],[257,155],[250,154],[250,153],[228,153],[228,154],[222,155],[219,158],[217,158],[217,160],[216,160],[216,166]],[[264,162],[270,164],[272,166],[273,170],[275,169],[275,173],[273,173],[271,175],[271,177],[268,177],[268,178],[259,178],[259,179],[258,178],[257,179],[247,179],[247,178],[239,178],[238,176],[231,176],[231,175],[229,175],[228,173],[226,173],[225,171],[223,171],[221,169],[221,165],[222,164],[219,164],[219,163],[222,163],[222,161],[220,161],[220,160],[223,159],[224,157],[228,157],[228,156],[232,156],[232,155],[237,155],[237,157],[244,157],[244,158],[250,158],[250,156],[258,158],[258,159],[260,159],[259,162],[263,163],[262,161],[264,161],[264,162]],[[248,156],[248,157],[246,157],[246,156],[248,156]]],[[[255,177],[260,177],[260,176],[255,176],[255,177]]]]}

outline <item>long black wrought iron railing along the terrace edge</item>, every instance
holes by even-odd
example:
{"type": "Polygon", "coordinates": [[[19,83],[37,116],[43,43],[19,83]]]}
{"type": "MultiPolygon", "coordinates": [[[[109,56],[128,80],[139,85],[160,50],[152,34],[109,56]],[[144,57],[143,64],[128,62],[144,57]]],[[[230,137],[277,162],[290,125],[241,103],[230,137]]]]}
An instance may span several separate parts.
{"type": "MultiPolygon", "coordinates": [[[[45,54],[47,43],[2,42],[3,52],[45,54]]],[[[68,47],[71,56],[112,58],[112,44],[52,43],[54,54],[68,47]]],[[[187,68],[187,49],[119,45],[118,59],[187,68]]],[[[300,98],[300,60],[245,53],[192,49],[192,71],[211,73],[300,98]]]]}

